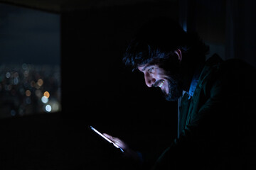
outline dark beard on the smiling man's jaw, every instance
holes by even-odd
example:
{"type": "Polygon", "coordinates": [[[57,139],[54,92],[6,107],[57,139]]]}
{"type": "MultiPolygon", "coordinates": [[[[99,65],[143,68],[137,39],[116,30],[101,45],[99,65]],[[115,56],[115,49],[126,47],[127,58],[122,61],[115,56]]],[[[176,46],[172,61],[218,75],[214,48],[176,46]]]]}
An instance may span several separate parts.
{"type": "Polygon", "coordinates": [[[182,96],[183,89],[181,88],[181,79],[179,76],[171,76],[167,79],[169,86],[169,94],[163,91],[164,97],[167,101],[178,101],[182,96]]]}

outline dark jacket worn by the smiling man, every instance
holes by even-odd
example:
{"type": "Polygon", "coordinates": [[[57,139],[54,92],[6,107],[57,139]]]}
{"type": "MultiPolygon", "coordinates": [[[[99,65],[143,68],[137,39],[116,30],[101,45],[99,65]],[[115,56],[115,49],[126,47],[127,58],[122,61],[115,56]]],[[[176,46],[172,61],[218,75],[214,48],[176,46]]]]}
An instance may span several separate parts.
{"type": "Polygon", "coordinates": [[[184,94],[178,139],[155,169],[250,169],[256,162],[256,73],[240,60],[213,55],[193,97],[184,94]]]}

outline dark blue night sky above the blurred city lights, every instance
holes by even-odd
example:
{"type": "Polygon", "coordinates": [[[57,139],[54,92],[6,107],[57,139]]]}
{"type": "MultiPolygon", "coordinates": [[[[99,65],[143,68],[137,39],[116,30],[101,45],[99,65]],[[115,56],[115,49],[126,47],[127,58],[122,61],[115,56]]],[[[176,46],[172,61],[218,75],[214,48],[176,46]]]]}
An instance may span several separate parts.
{"type": "Polygon", "coordinates": [[[60,64],[60,16],[0,4],[0,64],[60,64]]]}

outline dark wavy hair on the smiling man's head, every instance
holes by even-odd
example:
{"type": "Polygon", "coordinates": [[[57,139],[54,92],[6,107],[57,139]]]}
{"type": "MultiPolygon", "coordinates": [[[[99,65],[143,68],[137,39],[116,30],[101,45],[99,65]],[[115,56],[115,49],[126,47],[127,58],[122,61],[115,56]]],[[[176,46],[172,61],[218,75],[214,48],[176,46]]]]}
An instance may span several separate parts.
{"type": "Polygon", "coordinates": [[[145,23],[129,42],[123,62],[133,69],[148,63],[177,62],[174,53],[177,49],[183,54],[183,62],[196,65],[205,61],[209,50],[196,33],[186,33],[171,18],[154,18],[145,23]]]}

